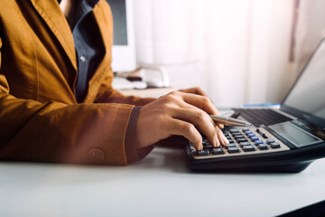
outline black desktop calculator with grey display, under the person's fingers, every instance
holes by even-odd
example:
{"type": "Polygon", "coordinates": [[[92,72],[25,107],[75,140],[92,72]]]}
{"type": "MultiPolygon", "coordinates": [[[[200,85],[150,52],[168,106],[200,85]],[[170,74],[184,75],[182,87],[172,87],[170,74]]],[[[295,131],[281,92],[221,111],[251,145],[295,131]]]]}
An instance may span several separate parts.
{"type": "Polygon", "coordinates": [[[325,156],[324,140],[309,132],[302,133],[294,121],[271,127],[237,127],[224,130],[224,134],[229,141],[227,146],[213,147],[204,137],[203,150],[198,151],[191,144],[186,146],[190,169],[198,172],[297,173],[325,156]],[[285,132],[289,132],[289,136],[285,132]]]}

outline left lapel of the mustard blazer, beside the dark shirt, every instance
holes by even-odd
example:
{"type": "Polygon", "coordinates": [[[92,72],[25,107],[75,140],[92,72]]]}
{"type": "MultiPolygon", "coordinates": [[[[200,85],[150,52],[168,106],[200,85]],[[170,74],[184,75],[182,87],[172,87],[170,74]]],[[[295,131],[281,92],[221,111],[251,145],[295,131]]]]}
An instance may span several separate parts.
{"type": "Polygon", "coordinates": [[[77,71],[76,51],[73,36],[64,14],[60,10],[58,1],[31,0],[31,2],[60,42],[63,50],[67,53],[73,68],[77,71]]]}

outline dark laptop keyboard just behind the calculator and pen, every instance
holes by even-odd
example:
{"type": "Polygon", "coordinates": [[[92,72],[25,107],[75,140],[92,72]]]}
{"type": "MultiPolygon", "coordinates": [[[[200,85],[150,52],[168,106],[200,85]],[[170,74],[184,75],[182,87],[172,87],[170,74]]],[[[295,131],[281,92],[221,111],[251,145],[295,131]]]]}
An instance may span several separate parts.
{"type": "Polygon", "coordinates": [[[234,109],[235,112],[239,112],[240,116],[245,118],[248,122],[254,126],[259,127],[261,125],[270,126],[278,123],[282,123],[288,120],[292,120],[286,116],[283,116],[272,109],[234,109]]]}

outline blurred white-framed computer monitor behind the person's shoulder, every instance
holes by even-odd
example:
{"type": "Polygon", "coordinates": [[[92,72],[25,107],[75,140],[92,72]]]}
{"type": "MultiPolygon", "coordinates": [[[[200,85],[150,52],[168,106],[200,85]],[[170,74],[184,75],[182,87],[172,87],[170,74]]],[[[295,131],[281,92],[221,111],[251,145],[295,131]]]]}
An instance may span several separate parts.
{"type": "Polygon", "coordinates": [[[112,48],[113,71],[134,71],[135,27],[133,0],[107,0],[114,21],[114,44],[112,48]]]}

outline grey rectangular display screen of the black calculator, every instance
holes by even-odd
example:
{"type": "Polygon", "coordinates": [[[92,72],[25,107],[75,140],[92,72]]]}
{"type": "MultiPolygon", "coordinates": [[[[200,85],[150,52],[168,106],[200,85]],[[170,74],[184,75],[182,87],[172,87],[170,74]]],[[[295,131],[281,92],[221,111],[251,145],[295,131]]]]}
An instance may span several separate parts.
{"type": "Polygon", "coordinates": [[[270,128],[297,147],[310,146],[322,141],[320,138],[307,133],[299,127],[295,127],[289,122],[273,125],[270,128]]]}

